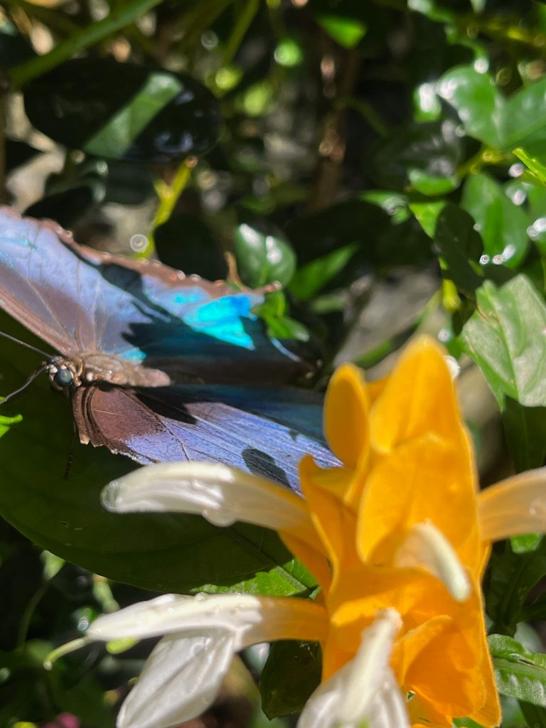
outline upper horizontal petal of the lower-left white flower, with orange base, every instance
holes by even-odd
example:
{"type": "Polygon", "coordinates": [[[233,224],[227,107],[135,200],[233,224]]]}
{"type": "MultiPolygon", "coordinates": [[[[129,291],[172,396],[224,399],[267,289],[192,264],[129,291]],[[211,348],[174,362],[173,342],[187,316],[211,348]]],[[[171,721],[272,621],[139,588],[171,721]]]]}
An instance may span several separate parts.
{"type": "Polygon", "coordinates": [[[234,650],[275,639],[321,640],[328,630],[323,606],[307,599],[259,598],[250,594],[165,594],[103,614],[86,636],[110,641],[143,639],[186,631],[206,635],[224,630],[234,636],[234,650]]]}

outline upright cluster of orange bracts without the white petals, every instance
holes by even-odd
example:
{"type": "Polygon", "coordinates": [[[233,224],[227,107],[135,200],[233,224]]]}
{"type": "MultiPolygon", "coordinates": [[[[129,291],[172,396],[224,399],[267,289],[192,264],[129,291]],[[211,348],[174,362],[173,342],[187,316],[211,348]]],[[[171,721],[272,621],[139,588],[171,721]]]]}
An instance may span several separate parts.
{"type": "Polygon", "coordinates": [[[323,553],[283,534],[323,589],[330,619],[323,678],[352,659],[378,610],[394,607],[403,629],[391,665],[414,724],[451,727],[463,716],[498,724],[480,593],[488,545],[480,539],[472,446],[443,349],[416,339],[392,374],[371,385],[354,366],[341,366],[328,389],[325,433],[344,466],[301,463],[323,553]],[[467,571],[464,601],[426,566],[400,558],[419,524],[435,526],[467,571]]]}

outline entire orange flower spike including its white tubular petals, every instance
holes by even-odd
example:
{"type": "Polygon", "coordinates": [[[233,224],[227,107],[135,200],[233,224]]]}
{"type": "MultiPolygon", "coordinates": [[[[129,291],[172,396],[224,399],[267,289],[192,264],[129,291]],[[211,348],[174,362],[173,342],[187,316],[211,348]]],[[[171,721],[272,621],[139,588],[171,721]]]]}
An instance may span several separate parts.
{"type": "Polygon", "coordinates": [[[323,681],[300,728],[447,728],[454,717],[499,723],[480,578],[492,539],[545,530],[545,471],[478,492],[451,373],[428,338],[410,344],[383,381],[366,384],[354,366],[339,368],[325,434],[343,466],[322,470],[304,458],[305,499],[210,463],[146,467],[106,488],[105,505],[117,513],[178,510],[218,525],[276,529],[322,587],[316,603],[167,596],[100,617],[90,638],[167,635],[120,727],[190,719],[203,695],[212,699],[226,649],[283,638],[323,647],[323,681]],[[192,660],[206,662],[201,682],[192,660]],[[183,690],[173,688],[177,670],[183,690]]]}

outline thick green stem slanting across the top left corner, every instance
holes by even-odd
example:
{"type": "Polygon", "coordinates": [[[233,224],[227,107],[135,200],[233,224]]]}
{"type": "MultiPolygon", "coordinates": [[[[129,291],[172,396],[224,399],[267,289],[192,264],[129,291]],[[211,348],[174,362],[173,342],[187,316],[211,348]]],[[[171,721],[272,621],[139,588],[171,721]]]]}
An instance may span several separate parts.
{"type": "Polygon", "coordinates": [[[136,18],[148,12],[151,8],[159,5],[162,0],[132,0],[116,9],[111,10],[108,17],[93,23],[87,28],[74,33],[73,36],[61,41],[58,46],[53,48],[49,53],[40,55],[38,58],[21,63],[9,71],[9,78],[14,84],[22,86],[28,83],[36,76],[41,76],[46,71],[50,71],[63,61],[72,58],[77,53],[85,50],[106,36],[119,31],[125,25],[130,25],[136,18]]]}

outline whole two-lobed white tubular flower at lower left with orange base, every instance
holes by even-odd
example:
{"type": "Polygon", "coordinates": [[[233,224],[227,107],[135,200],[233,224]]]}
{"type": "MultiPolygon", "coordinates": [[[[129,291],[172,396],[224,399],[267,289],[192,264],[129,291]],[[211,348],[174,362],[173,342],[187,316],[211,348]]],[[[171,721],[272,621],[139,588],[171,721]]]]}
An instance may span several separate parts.
{"type": "Polygon", "coordinates": [[[167,594],[92,622],[87,638],[164,635],[125,700],[118,728],[169,728],[213,702],[236,652],[274,639],[323,640],[328,614],[304,599],[167,594]]]}

